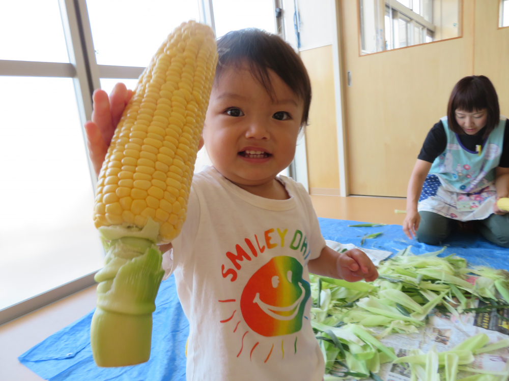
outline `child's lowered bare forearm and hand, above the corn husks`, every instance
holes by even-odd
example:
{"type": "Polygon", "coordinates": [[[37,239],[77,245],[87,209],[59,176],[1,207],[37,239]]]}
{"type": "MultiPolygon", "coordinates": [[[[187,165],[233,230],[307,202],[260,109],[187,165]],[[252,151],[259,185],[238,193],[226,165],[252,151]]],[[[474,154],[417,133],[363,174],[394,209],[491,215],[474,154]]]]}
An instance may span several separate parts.
{"type": "Polygon", "coordinates": [[[345,279],[349,282],[356,282],[363,278],[368,282],[372,282],[378,278],[375,265],[366,256],[366,253],[359,249],[338,253],[325,246],[320,253],[320,257],[310,260],[307,267],[310,273],[345,279]]]}

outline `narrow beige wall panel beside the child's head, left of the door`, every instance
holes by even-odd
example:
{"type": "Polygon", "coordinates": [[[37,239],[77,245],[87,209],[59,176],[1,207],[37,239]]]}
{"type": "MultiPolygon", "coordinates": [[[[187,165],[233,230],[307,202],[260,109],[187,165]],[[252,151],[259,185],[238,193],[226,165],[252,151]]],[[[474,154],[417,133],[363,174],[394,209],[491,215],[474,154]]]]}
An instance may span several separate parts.
{"type": "Polygon", "coordinates": [[[332,45],[301,51],[300,56],[306,66],[313,90],[309,125],[305,133],[309,187],[338,189],[340,175],[334,111],[332,45]]]}

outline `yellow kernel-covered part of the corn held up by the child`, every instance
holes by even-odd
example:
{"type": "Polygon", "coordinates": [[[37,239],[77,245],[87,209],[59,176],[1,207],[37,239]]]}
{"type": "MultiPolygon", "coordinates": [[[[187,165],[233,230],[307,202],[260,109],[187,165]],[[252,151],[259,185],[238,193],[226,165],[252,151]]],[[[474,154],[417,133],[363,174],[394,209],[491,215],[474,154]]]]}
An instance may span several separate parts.
{"type": "Polygon", "coordinates": [[[161,243],[180,233],[216,64],[206,25],[183,23],[163,42],[111,140],[98,180],[96,227],[143,228],[150,217],[161,243]]]}

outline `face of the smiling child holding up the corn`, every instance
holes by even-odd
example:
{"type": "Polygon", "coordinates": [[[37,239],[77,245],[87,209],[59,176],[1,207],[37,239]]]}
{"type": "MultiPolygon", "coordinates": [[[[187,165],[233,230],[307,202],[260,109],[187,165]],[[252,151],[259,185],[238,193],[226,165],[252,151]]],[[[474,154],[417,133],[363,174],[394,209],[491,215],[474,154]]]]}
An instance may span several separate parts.
{"type": "Polygon", "coordinates": [[[203,138],[214,168],[242,185],[261,185],[290,165],[303,101],[269,70],[274,100],[247,66],[226,68],[212,88],[203,138]]]}

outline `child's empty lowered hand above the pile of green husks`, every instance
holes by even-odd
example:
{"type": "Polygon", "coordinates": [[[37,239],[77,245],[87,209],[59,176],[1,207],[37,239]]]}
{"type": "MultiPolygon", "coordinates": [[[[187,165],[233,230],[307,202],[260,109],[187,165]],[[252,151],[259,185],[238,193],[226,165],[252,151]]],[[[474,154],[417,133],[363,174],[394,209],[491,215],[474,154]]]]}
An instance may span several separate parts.
{"type": "Polygon", "coordinates": [[[340,253],[336,261],[337,274],[349,282],[366,279],[372,282],[378,278],[378,271],[364,251],[352,249],[340,253]]]}

